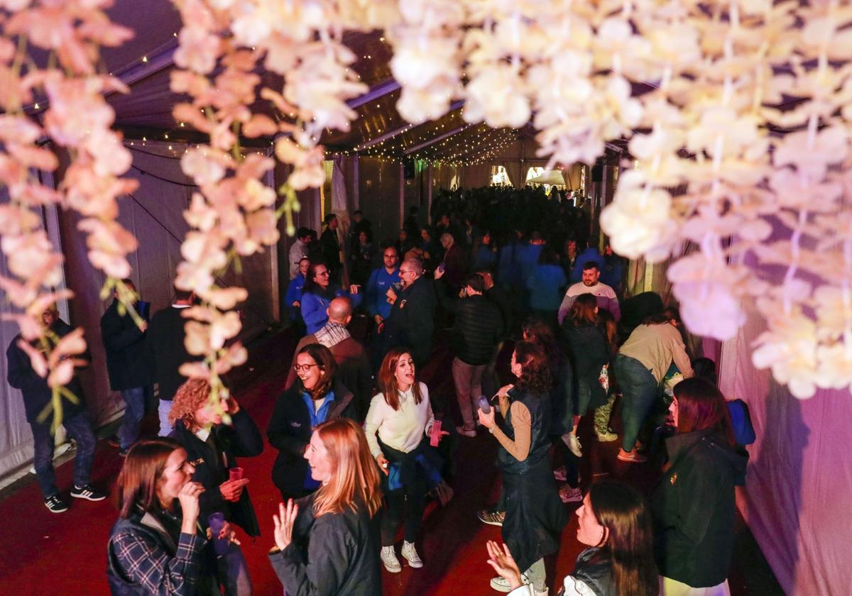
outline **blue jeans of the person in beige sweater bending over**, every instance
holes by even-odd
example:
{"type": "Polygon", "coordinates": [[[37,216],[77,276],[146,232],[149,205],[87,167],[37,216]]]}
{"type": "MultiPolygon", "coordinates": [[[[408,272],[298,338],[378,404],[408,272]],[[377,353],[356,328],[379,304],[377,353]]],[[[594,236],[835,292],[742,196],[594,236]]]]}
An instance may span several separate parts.
{"type": "Polygon", "coordinates": [[[659,382],[644,364],[624,354],[616,355],[614,369],[622,397],[621,421],[624,432],[621,434],[621,449],[631,451],[636,446],[642,424],[653,409],[659,382]]]}

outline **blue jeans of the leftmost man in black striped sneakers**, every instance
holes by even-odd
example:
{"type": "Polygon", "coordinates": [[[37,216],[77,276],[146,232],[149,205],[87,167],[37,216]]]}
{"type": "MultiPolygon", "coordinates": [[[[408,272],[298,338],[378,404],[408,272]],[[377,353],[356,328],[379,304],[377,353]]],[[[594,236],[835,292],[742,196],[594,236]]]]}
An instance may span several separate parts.
{"type": "MultiPolygon", "coordinates": [[[[89,484],[92,459],[95,455],[95,433],[92,433],[89,415],[80,412],[63,420],[62,426],[65,427],[68,435],[77,441],[77,455],[74,456],[74,485],[85,486],[89,484]]],[[[53,469],[54,433],[50,431],[49,424],[30,422],[30,427],[35,448],[32,465],[36,468],[38,485],[42,489],[44,498],[47,499],[59,494],[53,469]]]]}

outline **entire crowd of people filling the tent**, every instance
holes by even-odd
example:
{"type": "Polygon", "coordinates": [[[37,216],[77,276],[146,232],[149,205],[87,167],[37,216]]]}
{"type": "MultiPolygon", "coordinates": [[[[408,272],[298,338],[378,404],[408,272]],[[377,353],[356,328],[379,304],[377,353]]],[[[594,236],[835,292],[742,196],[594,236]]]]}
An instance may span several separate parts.
{"type": "MultiPolygon", "coordinates": [[[[345,238],[336,215],[319,240],[296,233],[285,301],[301,339],[285,356],[291,368],[266,429],[281,496],[269,560],[285,593],[376,596],[382,567],[400,572],[400,557],[428,567],[417,550],[427,500],[452,499],[458,446],[490,434],[500,498],[478,517],[501,526],[503,544],[483,544],[494,590],[538,596],[556,581],[569,596],[727,594],[734,485],[747,455],[714,380],[694,374],[704,364],[694,371],[699,354],[688,352],[676,309],[651,292],[625,300],[625,261],[585,234],[564,200],[542,207],[536,196],[551,219],[524,228],[495,219],[493,198],[446,195],[444,207],[466,207],[437,211],[434,225],[413,209],[378,249],[360,212],[345,238]],[[456,393],[440,410],[419,376],[437,330],[449,335],[456,393]],[[662,479],[648,501],[617,481],[581,490],[579,427],[590,418],[590,436],[618,440],[616,401],[618,460],[642,464],[659,445],[651,461],[662,479]],[[560,549],[566,503],[579,503],[577,540],[587,548],[570,576],[549,581],[544,558],[560,549]]],[[[181,309],[193,300],[178,292],[153,316],[139,300],[138,324],[116,297],[101,321],[111,387],[126,405],[113,594],[252,593],[234,527],[257,536],[262,523],[237,458],[259,455],[263,434],[233,395],[211,401],[206,382],[178,372],[192,358],[181,309]],[[144,438],[155,381],[160,437],[144,438]]],[[[43,322],[70,331],[55,311],[43,322]]],[[[53,427],[38,417],[51,391],[28,349],[37,347],[20,337],[9,346],[9,383],[27,405],[45,505],[60,513],[53,427]]],[[[103,499],[89,484],[95,439],[81,388],[76,379],[66,388],[80,398],[62,421],[78,441],[71,494],[103,499]]]]}

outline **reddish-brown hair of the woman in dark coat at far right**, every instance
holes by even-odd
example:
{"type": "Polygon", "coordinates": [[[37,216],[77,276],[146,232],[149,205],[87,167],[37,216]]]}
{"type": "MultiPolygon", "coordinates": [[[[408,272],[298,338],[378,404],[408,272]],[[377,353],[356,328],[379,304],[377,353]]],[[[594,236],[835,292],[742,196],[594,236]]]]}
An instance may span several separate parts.
{"type": "Polygon", "coordinates": [[[693,377],[675,386],[677,432],[692,433],[708,428],[721,431],[734,446],[734,428],[722,392],[710,381],[693,377]]]}

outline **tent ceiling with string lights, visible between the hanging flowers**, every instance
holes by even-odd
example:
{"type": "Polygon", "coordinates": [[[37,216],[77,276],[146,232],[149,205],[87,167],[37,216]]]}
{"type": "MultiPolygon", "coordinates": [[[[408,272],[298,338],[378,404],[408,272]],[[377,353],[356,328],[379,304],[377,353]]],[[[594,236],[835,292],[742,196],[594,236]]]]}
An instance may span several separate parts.
{"type": "MultiPolygon", "coordinates": [[[[107,98],[116,111],[118,128],[130,138],[147,135],[151,140],[162,140],[169,135],[170,140],[201,140],[192,130],[181,128],[171,115],[172,106],[187,97],[172,93],[169,88],[170,73],[176,67],[172,54],[181,29],[180,15],[170,0],[117,0],[109,14],[115,22],[135,31],[135,37],[124,46],[103,51],[107,70],[122,77],[131,89],[130,95],[113,94],[107,98]]],[[[391,49],[381,33],[347,32],[343,43],[357,57],[354,71],[371,89],[350,102],[357,118],[348,132],[325,131],[320,142],[329,152],[470,162],[499,152],[500,147],[513,140],[533,139],[535,131],[529,125],[515,131],[465,123],[461,102],[438,120],[418,126],[406,123],[396,111],[400,90],[390,73],[391,49]]],[[[260,74],[263,84],[278,89],[283,86],[278,75],[260,74]]],[[[253,109],[287,119],[287,115],[273,114],[266,102],[258,102],[253,109]]]]}

